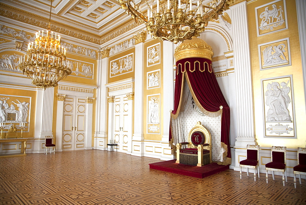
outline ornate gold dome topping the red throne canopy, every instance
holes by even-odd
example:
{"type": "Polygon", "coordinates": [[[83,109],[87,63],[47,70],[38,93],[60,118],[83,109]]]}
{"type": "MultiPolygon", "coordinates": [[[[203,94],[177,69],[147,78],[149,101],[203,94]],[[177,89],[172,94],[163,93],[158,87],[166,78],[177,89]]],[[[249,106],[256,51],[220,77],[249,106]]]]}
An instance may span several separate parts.
{"type": "Polygon", "coordinates": [[[205,41],[200,38],[192,38],[185,40],[177,48],[175,48],[174,57],[175,61],[184,58],[207,58],[212,60],[212,48],[205,41]]]}

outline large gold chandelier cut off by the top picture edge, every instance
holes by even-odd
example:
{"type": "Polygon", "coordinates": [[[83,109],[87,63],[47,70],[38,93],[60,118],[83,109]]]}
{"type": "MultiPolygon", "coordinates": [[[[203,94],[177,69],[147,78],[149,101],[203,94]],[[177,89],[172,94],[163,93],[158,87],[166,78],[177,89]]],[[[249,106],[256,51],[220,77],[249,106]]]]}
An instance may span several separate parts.
{"type": "Polygon", "coordinates": [[[121,8],[159,40],[180,41],[198,37],[209,20],[229,8],[228,0],[118,0],[121,8]]]}

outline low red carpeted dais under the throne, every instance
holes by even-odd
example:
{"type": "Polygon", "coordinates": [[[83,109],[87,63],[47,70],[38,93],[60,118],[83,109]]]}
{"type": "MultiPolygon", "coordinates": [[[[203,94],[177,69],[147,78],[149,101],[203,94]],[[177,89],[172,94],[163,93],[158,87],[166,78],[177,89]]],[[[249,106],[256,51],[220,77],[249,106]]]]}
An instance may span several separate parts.
{"type": "Polygon", "coordinates": [[[157,169],[165,172],[182,174],[196,178],[211,176],[230,168],[230,165],[219,165],[217,163],[210,163],[202,167],[197,167],[187,164],[175,163],[175,161],[176,160],[174,159],[169,161],[155,162],[149,165],[150,169],[157,169]]]}

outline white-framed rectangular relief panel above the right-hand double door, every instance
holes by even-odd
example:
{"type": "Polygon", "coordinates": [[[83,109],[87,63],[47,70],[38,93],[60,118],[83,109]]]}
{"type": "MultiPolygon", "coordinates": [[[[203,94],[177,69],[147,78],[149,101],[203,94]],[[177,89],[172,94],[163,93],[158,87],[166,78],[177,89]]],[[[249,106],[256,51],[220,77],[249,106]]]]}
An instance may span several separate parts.
{"type": "Polygon", "coordinates": [[[134,53],[110,61],[110,78],[133,71],[134,53]]]}

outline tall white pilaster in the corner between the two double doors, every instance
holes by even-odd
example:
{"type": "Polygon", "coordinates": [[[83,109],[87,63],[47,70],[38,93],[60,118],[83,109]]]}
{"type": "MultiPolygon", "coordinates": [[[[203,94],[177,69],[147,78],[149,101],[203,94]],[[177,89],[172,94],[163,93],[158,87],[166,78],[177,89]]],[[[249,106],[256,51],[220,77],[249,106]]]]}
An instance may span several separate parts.
{"type": "MultiPolygon", "coordinates": [[[[98,52],[99,53],[99,52],[98,52]]],[[[107,118],[107,93],[105,84],[107,83],[108,57],[101,59],[99,54],[97,66],[97,101],[96,101],[96,122],[94,134],[94,149],[101,149],[100,141],[103,141],[103,150],[106,149],[107,133],[106,122],[107,118]]]]}

